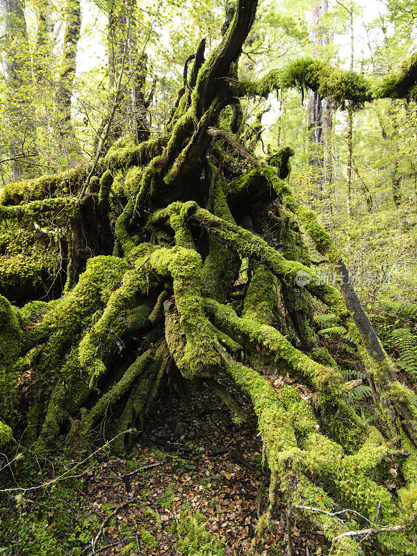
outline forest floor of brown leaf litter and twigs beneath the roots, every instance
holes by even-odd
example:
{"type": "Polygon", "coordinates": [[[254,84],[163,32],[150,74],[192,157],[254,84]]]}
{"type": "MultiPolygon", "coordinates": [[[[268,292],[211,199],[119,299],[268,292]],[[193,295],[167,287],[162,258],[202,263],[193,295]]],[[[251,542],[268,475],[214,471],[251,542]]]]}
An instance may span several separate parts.
{"type": "MultiPolygon", "coordinates": [[[[269,378],[277,388],[284,382],[294,383],[288,377],[269,378]]],[[[309,397],[304,386],[297,388],[300,395],[309,397]]],[[[268,471],[262,465],[261,441],[250,404],[238,391],[231,393],[248,417],[240,427],[206,386],[191,386],[188,402],[175,392],[159,399],[143,438],[125,457],[97,452],[54,488],[28,491],[19,517],[23,514],[20,530],[6,533],[0,527],[0,553],[286,555],[284,501],[277,506],[272,529],[256,534],[259,511],[268,505],[268,471]],[[30,523],[31,530],[23,535],[30,523]],[[45,530],[59,552],[52,548],[52,540],[47,548],[47,541],[40,539],[45,530]],[[9,547],[10,552],[1,546],[9,547]]],[[[77,459],[81,458],[74,454],[73,461],[77,459]]],[[[67,459],[67,468],[71,465],[67,459]]],[[[39,482],[47,479],[42,471],[38,476],[39,482]]],[[[5,524],[15,512],[10,503],[3,513],[5,524]]],[[[320,532],[294,512],[291,532],[295,555],[327,553],[320,532]]]]}

